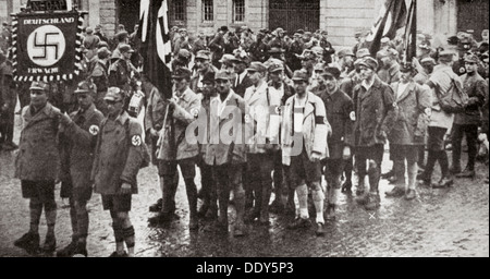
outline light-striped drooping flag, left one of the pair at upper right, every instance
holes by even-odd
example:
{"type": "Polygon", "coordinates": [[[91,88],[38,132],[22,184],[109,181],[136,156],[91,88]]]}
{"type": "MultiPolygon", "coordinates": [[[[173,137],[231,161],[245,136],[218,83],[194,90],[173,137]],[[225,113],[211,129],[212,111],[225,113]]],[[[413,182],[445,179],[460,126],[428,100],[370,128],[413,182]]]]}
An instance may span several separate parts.
{"type": "Polygon", "coordinates": [[[371,32],[366,40],[370,41],[369,52],[376,57],[378,52],[381,38],[389,37],[393,39],[396,31],[405,26],[407,17],[407,10],[405,0],[387,0],[381,8],[379,15],[372,25],[371,32]]]}

